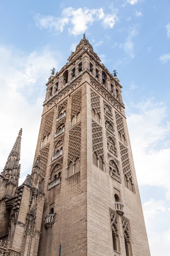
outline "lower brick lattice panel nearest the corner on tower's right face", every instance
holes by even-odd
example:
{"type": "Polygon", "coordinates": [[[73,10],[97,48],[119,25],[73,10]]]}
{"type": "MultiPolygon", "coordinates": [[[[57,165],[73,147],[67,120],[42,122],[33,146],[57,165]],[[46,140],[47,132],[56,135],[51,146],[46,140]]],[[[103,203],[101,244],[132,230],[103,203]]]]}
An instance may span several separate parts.
{"type": "Polygon", "coordinates": [[[93,153],[95,153],[97,157],[102,157],[102,160],[104,160],[102,127],[94,120],[92,120],[92,140],[93,153]]]}

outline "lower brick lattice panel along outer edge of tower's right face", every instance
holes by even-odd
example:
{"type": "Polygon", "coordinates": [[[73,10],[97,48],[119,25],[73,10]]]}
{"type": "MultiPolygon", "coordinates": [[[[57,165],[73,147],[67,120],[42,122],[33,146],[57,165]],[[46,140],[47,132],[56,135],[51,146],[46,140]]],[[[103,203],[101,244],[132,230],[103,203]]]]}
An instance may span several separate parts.
{"type": "Polygon", "coordinates": [[[132,181],[133,178],[132,178],[132,171],[131,171],[131,167],[130,167],[128,149],[124,145],[122,145],[120,142],[119,142],[119,146],[120,146],[123,174],[125,175],[125,177],[127,179],[130,179],[132,181]]]}

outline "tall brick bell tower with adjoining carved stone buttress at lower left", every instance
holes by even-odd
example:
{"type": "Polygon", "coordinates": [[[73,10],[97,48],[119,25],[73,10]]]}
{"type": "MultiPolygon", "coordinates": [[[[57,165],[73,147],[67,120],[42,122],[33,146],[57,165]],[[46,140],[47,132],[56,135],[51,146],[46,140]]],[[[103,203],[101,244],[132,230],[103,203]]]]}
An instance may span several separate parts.
{"type": "Polygon", "coordinates": [[[84,35],[52,70],[32,174],[10,197],[0,252],[57,256],[62,241],[61,256],[150,256],[122,86],[100,62],[84,35]]]}

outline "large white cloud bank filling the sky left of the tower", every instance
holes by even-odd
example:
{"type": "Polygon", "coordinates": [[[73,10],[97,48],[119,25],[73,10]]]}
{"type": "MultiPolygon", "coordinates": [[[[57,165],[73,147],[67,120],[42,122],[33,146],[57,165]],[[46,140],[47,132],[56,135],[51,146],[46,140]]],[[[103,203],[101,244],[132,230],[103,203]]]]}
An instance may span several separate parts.
{"type": "Polygon", "coordinates": [[[0,172],[8,154],[23,128],[21,142],[21,177],[30,172],[45,98],[47,78],[51,68],[58,69],[57,52],[48,48],[29,54],[20,50],[0,46],[0,172]]]}

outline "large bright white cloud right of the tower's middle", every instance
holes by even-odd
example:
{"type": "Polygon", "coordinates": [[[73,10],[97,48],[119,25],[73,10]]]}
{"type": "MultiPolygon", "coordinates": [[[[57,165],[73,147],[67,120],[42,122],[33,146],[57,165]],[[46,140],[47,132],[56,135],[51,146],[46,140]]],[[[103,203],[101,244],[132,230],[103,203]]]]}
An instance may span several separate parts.
{"type": "Polygon", "coordinates": [[[136,105],[136,111],[127,123],[139,185],[162,187],[170,199],[170,148],[163,145],[170,133],[169,122],[163,125],[166,107],[150,99],[136,105]]]}

